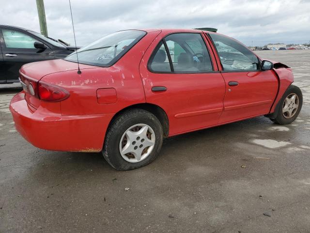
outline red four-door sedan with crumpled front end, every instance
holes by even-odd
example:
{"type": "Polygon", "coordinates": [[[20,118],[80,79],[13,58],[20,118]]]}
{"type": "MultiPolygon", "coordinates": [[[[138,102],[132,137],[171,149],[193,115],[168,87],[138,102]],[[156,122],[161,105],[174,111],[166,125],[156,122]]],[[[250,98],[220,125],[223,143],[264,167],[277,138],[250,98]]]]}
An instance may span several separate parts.
{"type": "Polygon", "coordinates": [[[10,110],[26,140],[102,151],[118,170],[151,163],[163,137],[255,116],[289,124],[302,106],[291,68],[199,30],[112,33],[63,60],[24,65],[20,82],[10,110]]]}

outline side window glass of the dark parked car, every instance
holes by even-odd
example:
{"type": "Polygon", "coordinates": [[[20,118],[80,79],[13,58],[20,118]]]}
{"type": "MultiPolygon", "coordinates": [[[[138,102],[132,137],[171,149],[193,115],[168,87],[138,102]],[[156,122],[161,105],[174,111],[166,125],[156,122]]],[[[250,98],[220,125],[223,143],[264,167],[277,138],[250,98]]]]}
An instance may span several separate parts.
{"type": "Polygon", "coordinates": [[[25,33],[2,29],[2,35],[6,48],[35,49],[33,43],[36,40],[25,33]]]}

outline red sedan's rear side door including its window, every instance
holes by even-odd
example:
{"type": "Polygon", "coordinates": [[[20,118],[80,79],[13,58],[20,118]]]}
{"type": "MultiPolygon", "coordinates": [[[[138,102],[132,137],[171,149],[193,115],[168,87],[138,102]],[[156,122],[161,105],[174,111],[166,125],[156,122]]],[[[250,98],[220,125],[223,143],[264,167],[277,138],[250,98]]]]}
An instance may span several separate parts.
{"type": "Polygon", "coordinates": [[[162,37],[155,39],[140,63],[146,101],[167,113],[169,135],[216,125],[225,83],[209,45],[201,33],[162,37]]]}

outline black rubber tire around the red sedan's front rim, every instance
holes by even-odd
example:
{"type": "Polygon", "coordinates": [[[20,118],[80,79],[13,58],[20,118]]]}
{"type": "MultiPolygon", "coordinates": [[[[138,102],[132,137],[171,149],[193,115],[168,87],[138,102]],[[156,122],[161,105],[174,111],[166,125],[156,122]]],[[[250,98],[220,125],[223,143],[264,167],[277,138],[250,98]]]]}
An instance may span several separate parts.
{"type": "Polygon", "coordinates": [[[302,93],[301,90],[299,89],[299,87],[295,86],[295,85],[290,85],[287,90],[284,92],[283,97],[281,98],[281,100],[279,101],[279,107],[278,107],[278,112],[276,113],[276,118],[271,119],[273,122],[275,122],[276,124],[279,125],[287,125],[287,124],[291,124],[299,115],[301,107],[302,107],[302,93]],[[291,94],[296,94],[299,100],[298,103],[298,108],[295,112],[295,114],[291,117],[291,118],[286,118],[283,116],[282,113],[282,107],[284,104],[284,101],[286,99],[286,97],[288,97],[291,94]]]}

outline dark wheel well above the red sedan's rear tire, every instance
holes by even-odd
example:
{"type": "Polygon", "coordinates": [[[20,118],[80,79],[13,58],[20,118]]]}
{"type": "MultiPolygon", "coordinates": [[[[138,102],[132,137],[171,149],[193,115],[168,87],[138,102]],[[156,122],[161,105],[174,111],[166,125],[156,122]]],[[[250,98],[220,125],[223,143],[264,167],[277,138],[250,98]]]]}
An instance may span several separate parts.
{"type": "Polygon", "coordinates": [[[155,104],[152,104],[152,103],[138,103],[138,104],[130,105],[130,106],[122,109],[121,111],[117,112],[113,116],[113,118],[111,119],[110,124],[111,124],[111,122],[113,122],[113,120],[117,116],[121,115],[124,111],[128,111],[130,109],[137,109],[137,108],[146,110],[146,111],[154,114],[158,118],[159,122],[161,123],[161,126],[163,127],[164,136],[168,137],[168,135],[169,135],[169,119],[168,119],[168,116],[167,116],[166,112],[161,107],[159,107],[155,104]]]}

